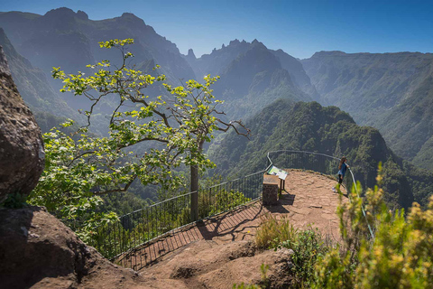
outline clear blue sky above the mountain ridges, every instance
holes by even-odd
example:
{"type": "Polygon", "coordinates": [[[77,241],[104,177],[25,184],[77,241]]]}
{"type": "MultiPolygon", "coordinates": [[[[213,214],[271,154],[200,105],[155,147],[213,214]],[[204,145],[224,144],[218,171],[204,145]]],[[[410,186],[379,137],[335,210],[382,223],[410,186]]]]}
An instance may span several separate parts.
{"type": "Polygon", "coordinates": [[[0,11],[45,14],[66,6],[100,20],[134,13],[197,56],[257,39],[300,59],[316,51],[433,52],[433,1],[0,0],[0,11]]]}

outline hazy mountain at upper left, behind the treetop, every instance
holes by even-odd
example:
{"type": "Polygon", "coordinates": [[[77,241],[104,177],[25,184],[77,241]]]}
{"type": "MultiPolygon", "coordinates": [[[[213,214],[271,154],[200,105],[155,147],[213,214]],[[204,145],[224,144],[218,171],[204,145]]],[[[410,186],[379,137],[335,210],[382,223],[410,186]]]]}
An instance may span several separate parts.
{"type": "MultiPolygon", "coordinates": [[[[119,64],[119,51],[103,50],[97,42],[134,38],[130,51],[134,53],[133,63],[138,67],[148,68],[150,62],[159,64],[159,72],[173,83],[178,83],[179,79],[195,79],[194,71],[176,45],[155,33],[134,14],[92,21],[86,13],[75,13],[64,7],[44,15],[8,12],[0,14],[0,27],[4,28],[15,49],[47,76],[51,76],[52,67],[60,66],[67,73],[89,73],[86,65],[95,61],[107,59],[119,64]]],[[[51,77],[49,81],[54,89],[60,89],[60,81],[51,77]]],[[[83,108],[86,103],[78,98],[65,99],[76,109],[83,108]]]]}

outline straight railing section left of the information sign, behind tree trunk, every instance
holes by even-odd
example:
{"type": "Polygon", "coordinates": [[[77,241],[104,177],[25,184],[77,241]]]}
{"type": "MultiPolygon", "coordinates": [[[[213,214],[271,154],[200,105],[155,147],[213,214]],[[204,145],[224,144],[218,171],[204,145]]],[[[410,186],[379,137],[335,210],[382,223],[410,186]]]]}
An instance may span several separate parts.
{"type": "Polygon", "coordinates": [[[190,219],[190,203],[195,193],[198,194],[199,220],[246,205],[261,198],[264,172],[255,172],[135,210],[117,222],[96,228],[90,245],[106,258],[114,260],[136,247],[143,247],[173,230],[188,226],[194,223],[190,219]]]}

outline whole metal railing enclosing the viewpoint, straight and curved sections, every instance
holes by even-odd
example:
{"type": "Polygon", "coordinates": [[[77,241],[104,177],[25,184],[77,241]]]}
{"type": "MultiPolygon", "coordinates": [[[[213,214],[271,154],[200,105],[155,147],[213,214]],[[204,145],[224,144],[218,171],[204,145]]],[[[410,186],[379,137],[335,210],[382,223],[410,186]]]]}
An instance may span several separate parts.
{"type": "MultiPolygon", "coordinates": [[[[258,200],[262,197],[263,173],[267,172],[272,164],[281,169],[314,171],[334,177],[338,172],[339,159],[327,154],[283,150],[269,152],[267,157],[268,165],[263,171],[163,200],[126,214],[117,222],[100,226],[95,229],[90,245],[111,260],[127,256],[137,247],[144,247],[174,230],[194,223],[190,219],[190,203],[191,196],[196,193],[200,220],[258,200]]],[[[350,191],[352,185],[356,186],[356,182],[352,171],[349,169],[347,172],[344,185],[346,191],[350,191]]],[[[363,213],[365,217],[364,208],[363,213]]],[[[368,228],[373,237],[369,224],[368,228]]]]}

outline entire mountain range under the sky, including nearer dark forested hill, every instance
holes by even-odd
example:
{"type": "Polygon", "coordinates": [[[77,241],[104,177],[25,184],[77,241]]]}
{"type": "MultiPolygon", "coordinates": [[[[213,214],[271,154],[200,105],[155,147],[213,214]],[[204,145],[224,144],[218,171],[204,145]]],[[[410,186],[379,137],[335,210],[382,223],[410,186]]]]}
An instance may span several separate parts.
{"type": "MultiPolygon", "coordinates": [[[[413,192],[407,196],[396,192],[400,197],[394,198],[395,203],[407,206],[410,200],[421,200],[427,194],[425,185],[412,188],[429,178],[430,172],[419,168],[433,169],[431,53],[320,51],[298,60],[257,40],[234,40],[197,58],[192,50],[181,54],[175,43],[134,14],[93,21],[85,12],[69,8],[44,15],[2,12],[0,28],[0,44],[17,87],[36,112],[43,131],[57,125],[61,117],[79,121],[83,117],[77,110],[88,107],[83,98],[60,94],[62,84],[51,78],[52,67],[89,73],[86,65],[96,61],[108,59],[118,64],[119,52],[100,49],[97,42],[134,38],[129,49],[135,56],[131,63],[135,68],[151,72],[158,64],[159,73],[174,85],[207,74],[221,77],[213,89],[217,99],[225,101],[227,119],[247,120],[253,134],[250,142],[218,135],[210,155],[217,157],[223,171],[235,166],[244,172],[241,165],[255,168],[254,162],[259,161],[254,160],[263,158],[264,151],[278,148],[349,154],[353,160],[364,157],[359,161],[364,172],[358,173],[367,185],[373,182],[379,161],[388,162],[388,167],[397,165],[395,172],[401,175],[417,172],[418,179],[413,173],[401,177],[399,182],[406,184],[396,190],[411,188],[413,192]],[[364,148],[350,150],[351,145],[364,148]],[[243,155],[248,157],[242,159],[243,155]]],[[[102,107],[97,111],[97,126],[102,126],[115,103],[107,101],[102,107]]]]}

